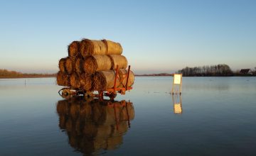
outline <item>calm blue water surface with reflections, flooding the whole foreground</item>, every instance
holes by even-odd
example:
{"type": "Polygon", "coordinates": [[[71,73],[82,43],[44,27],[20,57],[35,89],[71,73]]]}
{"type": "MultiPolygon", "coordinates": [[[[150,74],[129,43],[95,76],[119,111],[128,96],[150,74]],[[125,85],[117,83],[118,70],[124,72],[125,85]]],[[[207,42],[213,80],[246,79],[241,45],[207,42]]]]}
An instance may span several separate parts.
{"type": "Polygon", "coordinates": [[[0,155],[256,155],[256,77],[136,77],[114,103],[0,79],[0,155]]]}

